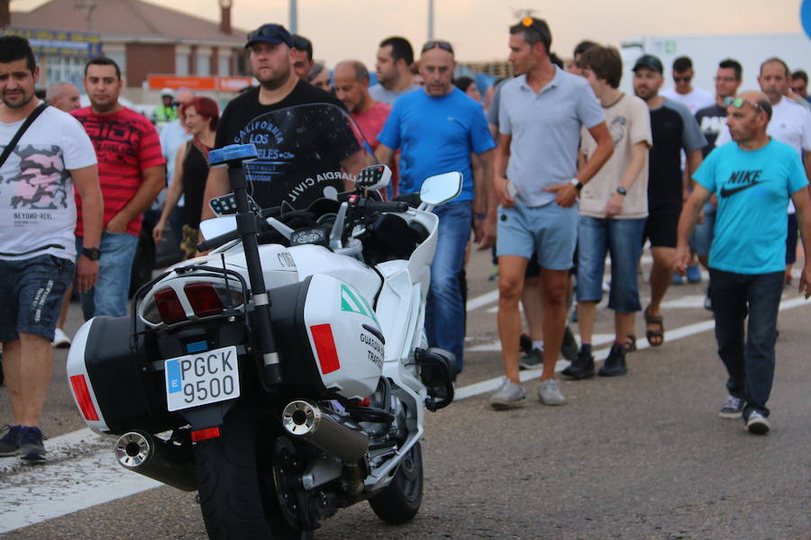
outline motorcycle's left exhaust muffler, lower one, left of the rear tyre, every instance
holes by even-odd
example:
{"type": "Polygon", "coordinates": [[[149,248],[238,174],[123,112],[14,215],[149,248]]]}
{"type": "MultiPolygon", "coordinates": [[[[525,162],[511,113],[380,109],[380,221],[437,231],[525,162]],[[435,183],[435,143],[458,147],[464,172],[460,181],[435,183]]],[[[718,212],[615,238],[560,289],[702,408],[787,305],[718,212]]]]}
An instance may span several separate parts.
{"type": "Polygon", "coordinates": [[[197,491],[194,455],[177,446],[140,431],[118,438],[115,457],[124,469],[143,474],[183,491],[197,491]]]}

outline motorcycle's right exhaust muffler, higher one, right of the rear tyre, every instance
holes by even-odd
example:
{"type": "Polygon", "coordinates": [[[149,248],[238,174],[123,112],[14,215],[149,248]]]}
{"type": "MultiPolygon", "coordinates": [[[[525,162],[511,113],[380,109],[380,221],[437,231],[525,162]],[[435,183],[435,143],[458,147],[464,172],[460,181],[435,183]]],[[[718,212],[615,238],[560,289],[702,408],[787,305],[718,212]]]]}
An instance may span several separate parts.
{"type": "Polygon", "coordinates": [[[342,461],[354,462],[369,451],[369,436],[351,428],[313,401],[296,400],[282,410],[282,425],[287,433],[301,437],[313,446],[332,454],[342,461]]]}

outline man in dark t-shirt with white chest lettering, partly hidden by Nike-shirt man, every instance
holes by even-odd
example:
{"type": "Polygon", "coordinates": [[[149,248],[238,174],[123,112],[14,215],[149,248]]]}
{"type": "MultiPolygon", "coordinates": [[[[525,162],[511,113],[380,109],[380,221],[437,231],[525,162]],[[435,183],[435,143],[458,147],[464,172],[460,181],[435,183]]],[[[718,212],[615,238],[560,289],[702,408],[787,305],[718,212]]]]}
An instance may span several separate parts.
{"type": "MultiPolygon", "coordinates": [[[[701,148],[704,157],[715,148],[715,139],[722,130],[726,129],[726,107],[724,99],[738,93],[741,85],[743,68],[741,64],[732,58],[727,58],[718,64],[718,71],[715,74],[715,103],[696,112],[696,121],[701,132],[706,138],[706,146],[701,148]]],[[[690,238],[690,247],[696,252],[698,262],[709,271],[709,248],[713,242],[713,230],[715,229],[715,195],[704,204],[704,219],[696,225],[693,237],[690,238]]],[[[710,287],[707,285],[704,307],[712,310],[710,301],[710,287]]]]}

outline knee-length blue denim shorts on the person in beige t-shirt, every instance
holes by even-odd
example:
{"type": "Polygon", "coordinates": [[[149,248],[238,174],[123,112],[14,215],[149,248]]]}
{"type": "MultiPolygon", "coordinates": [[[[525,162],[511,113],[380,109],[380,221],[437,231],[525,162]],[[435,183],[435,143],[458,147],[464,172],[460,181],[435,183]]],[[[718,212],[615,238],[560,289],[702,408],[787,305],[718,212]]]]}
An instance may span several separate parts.
{"type": "Polygon", "coordinates": [[[578,302],[599,302],[603,297],[606,253],[611,254],[611,291],[608,309],[620,313],[640,311],[636,266],[642,253],[645,219],[607,220],[580,216],[578,247],[578,302]]]}

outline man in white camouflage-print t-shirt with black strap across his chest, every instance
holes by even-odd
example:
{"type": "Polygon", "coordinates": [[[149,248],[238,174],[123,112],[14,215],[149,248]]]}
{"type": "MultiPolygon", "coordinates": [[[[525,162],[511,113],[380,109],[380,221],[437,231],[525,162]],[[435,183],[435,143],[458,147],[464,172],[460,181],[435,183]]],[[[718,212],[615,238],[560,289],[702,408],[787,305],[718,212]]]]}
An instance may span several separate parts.
{"type": "MultiPolygon", "coordinates": [[[[0,36],[0,148],[40,105],[34,95],[39,76],[28,40],[0,36]]],[[[74,261],[78,290],[96,284],[102,216],[90,139],[67,112],[46,108],[0,166],[0,342],[14,411],[0,456],[45,461],[39,422],[53,366],[50,342],[74,261]],[[86,235],[78,260],[74,184],[84,202],[86,235]]]]}

